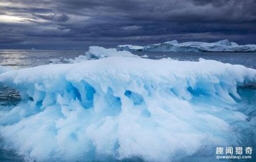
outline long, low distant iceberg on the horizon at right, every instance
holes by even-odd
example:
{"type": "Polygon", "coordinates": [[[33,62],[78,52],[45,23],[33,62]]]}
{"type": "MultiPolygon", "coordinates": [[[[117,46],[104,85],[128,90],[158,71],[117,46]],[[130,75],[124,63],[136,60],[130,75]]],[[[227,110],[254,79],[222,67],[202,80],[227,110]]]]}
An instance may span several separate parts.
{"type": "Polygon", "coordinates": [[[157,44],[149,44],[138,49],[129,45],[117,46],[117,49],[127,51],[163,51],[163,52],[256,52],[255,44],[238,45],[229,40],[220,40],[218,42],[184,42],[178,43],[177,40],[167,41],[157,44]]]}

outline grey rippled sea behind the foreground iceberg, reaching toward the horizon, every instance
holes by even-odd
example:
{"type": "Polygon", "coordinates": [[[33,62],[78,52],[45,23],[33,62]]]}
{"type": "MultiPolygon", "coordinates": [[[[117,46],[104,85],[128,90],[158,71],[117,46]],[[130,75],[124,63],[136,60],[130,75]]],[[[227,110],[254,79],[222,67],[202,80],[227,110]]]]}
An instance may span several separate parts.
{"type": "MultiPolygon", "coordinates": [[[[74,58],[85,50],[0,50],[0,65],[14,69],[49,64],[51,59],[74,58]]],[[[215,52],[132,52],[147,55],[150,59],[172,58],[182,61],[197,61],[199,58],[217,60],[224,63],[241,64],[256,69],[256,53],[215,53],[215,52]]]]}

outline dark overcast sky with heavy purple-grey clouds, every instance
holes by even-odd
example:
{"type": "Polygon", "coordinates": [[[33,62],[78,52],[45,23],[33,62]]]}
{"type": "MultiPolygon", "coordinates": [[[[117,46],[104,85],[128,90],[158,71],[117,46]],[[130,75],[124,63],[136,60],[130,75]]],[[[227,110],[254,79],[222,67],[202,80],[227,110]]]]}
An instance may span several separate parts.
{"type": "Polygon", "coordinates": [[[0,0],[0,49],[87,49],[174,39],[256,44],[256,1],[0,0]]]}

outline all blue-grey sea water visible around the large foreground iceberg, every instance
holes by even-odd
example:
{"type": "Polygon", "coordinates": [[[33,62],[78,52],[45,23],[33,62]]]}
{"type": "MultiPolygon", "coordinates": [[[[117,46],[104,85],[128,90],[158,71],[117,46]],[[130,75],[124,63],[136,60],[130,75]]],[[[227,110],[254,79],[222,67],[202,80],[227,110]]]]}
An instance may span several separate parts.
{"type": "MultiPolygon", "coordinates": [[[[74,58],[84,54],[85,51],[79,50],[0,50],[0,65],[13,69],[33,67],[43,64],[49,64],[51,59],[74,58]]],[[[212,59],[225,63],[241,64],[246,67],[256,69],[256,53],[169,53],[169,52],[133,52],[133,54],[143,56],[147,55],[149,59],[172,58],[176,60],[197,61],[199,58],[212,59]]],[[[203,67],[202,67],[203,68],[203,67]]],[[[246,114],[250,119],[255,117],[256,111],[256,87],[239,87],[238,93],[242,97],[239,101],[239,111],[246,114]]],[[[20,101],[18,92],[5,85],[0,85],[0,106],[8,108],[20,101]]],[[[233,123],[237,128],[237,134],[241,136],[241,146],[255,147],[254,131],[248,129],[243,123],[233,123]]],[[[255,152],[255,151],[254,151],[255,152]]],[[[196,154],[183,161],[208,161],[207,153],[196,154]]],[[[253,154],[254,160],[256,155],[253,154]]],[[[14,150],[8,150],[2,146],[0,139],[0,161],[27,161],[26,157],[18,155],[14,150]]],[[[217,159],[213,161],[219,161],[217,159]]],[[[222,160],[220,160],[222,161],[222,160]]],[[[238,161],[238,160],[230,160],[238,161]]],[[[239,160],[247,161],[247,160],[239,160]]],[[[253,161],[250,160],[250,161],[253,161]]]]}

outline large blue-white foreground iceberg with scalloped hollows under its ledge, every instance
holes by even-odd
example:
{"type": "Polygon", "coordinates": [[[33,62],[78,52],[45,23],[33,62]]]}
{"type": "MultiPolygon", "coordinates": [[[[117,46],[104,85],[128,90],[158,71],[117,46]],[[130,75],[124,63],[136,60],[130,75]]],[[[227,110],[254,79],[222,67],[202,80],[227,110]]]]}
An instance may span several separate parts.
{"type": "Polygon", "coordinates": [[[255,85],[256,70],[90,50],[86,58],[101,59],[0,74],[22,96],[0,111],[7,148],[36,161],[172,161],[238,145],[231,123],[247,116],[236,109],[237,87],[255,85]]]}

